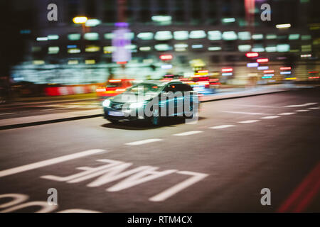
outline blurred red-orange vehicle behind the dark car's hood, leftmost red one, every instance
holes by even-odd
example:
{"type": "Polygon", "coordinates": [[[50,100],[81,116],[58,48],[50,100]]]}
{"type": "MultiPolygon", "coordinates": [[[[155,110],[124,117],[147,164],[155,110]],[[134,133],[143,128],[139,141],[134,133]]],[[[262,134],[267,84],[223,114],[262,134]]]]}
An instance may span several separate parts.
{"type": "Polygon", "coordinates": [[[132,87],[134,79],[110,79],[104,87],[96,89],[97,96],[106,99],[125,92],[128,87],[132,87]]]}

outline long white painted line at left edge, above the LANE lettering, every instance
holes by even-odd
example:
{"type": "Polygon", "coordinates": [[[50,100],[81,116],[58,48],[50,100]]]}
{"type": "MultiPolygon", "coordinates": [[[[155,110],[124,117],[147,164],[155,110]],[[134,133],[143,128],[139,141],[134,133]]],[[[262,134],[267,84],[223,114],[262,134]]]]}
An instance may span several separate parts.
{"type": "Polygon", "coordinates": [[[95,155],[97,153],[105,153],[107,152],[106,150],[101,150],[101,149],[94,149],[94,150],[85,150],[82,151],[80,153],[74,153],[72,155],[64,155],[64,156],[60,156],[60,157],[54,157],[48,160],[43,160],[41,162],[34,162],[28,165],[22,165],[19,167],[14,167],[8,170],[2,170],[0,171],[0,177],[6,177],[9,175],[14,175],[16,173],[19,172],[26,172],[28,170],[35,170],[41,167],[45,167],[48,165],[54,165],[60,162],[65,162],[65,161],[69,161],[69,160],[74,160],[80,157],[85,157],[85,156],[89,156],[89,155],[95,155]]]}

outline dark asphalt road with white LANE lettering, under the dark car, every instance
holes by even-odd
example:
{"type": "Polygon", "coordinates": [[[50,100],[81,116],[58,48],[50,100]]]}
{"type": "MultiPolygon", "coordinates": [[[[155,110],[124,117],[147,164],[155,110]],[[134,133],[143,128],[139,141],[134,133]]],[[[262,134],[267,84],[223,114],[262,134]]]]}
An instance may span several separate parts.
{"type": "Polygon", "coordinates": [[[97,117],[1,130],[0,212],[319,212],[319,97],[206,102],[196,124],[97,117]]]}

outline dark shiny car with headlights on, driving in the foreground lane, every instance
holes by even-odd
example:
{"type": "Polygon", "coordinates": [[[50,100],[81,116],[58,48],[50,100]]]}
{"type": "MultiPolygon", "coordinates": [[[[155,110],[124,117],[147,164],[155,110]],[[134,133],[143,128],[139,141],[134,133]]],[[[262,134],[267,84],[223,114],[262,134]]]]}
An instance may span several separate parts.
{"type": "Polygon", "coordinates": [[[198,112],[198,92],[180,81],[146,81],[103,101],[108,121],[149,121],[157,126],[166,117],[193,118],[198,112]]]}

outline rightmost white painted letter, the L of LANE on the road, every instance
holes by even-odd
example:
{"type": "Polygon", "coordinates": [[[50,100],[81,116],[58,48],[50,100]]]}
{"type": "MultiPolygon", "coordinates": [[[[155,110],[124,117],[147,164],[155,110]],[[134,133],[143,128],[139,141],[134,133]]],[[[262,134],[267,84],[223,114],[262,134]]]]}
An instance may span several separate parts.
{"type": "Polygon", "coordinates": [[[200,173],[200,172],[180,171],[177,173],[181,174],[181,175],[191,175],[193,177],[186,179],[185,181],[178,183],[169,189],[166,189],[164,192],[161,192],[159,194],[156,194],[155,196],[152,196],[149,200],[150,201],[164,201],[164,200],[168,199],[169,197],[173,196],[174,194],[181,192],[183,189],[190,187],[192,184],[196,184],[196,182],[201,181],[201,179],[208,177],[207,174],[200,173]]]}

